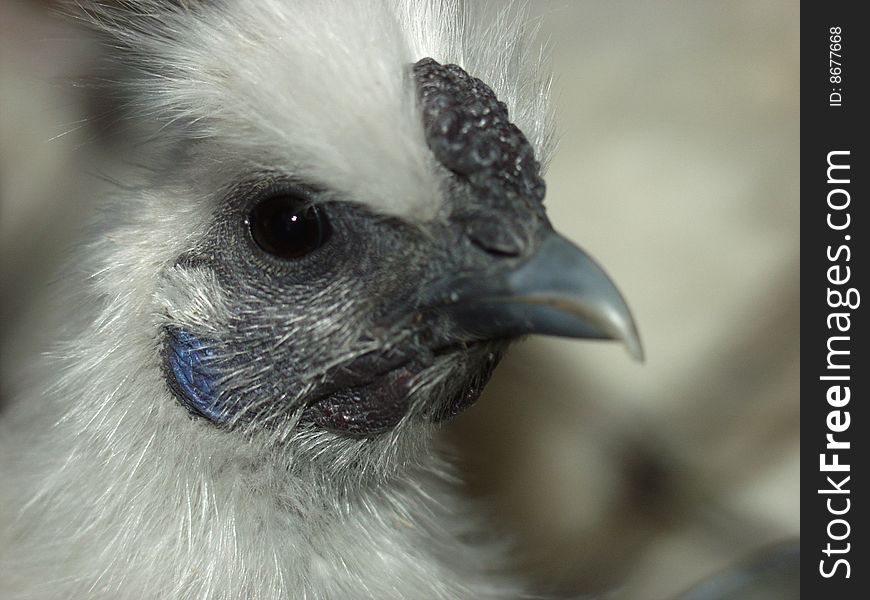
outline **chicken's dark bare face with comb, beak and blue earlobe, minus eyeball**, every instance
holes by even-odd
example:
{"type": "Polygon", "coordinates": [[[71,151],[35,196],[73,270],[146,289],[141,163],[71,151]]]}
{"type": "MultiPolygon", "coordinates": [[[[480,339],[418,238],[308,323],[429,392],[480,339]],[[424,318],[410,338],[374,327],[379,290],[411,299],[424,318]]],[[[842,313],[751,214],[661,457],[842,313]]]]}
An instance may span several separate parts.
{"type": "Polygon", "coordinates": [[[421,229],[246,175],[177,263],[213,272],[233,315],[215,339],[166,328],[167,381],[193,414],[372,435],[460,412],[520,335],[622,339],[641,356],[616,287],[552,230],[540,165],[504,104],[455,65],[424,59],[413,73],[448,217],[421,229]],[[317,229],[292,258],[257,239],[258,207],[281,199],[317,229]]]}

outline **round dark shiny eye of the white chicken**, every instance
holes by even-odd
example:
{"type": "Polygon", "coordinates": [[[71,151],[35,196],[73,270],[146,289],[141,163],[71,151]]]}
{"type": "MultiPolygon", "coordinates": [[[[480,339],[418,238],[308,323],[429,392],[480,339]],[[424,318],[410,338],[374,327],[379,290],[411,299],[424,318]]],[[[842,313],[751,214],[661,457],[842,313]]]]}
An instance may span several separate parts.
{"type": "Polygon", "coordinates": [[[248,216],[257,245],[279,258],[299,258],[329,239],[326,215],[306,198],[279,194],[260,201],[248,216]]]}

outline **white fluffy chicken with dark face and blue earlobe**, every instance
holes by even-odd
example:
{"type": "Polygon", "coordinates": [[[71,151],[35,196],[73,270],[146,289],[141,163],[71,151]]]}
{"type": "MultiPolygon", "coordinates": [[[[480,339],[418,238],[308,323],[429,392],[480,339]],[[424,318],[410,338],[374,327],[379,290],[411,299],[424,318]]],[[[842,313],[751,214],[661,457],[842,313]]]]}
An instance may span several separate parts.
{"type": "Polygon", "coordinates": [[[545,214],[522,11],[70,10],[114,183],[3,415],[2,597],[523,596],[434,432],[519,336],[642,351],[545,214]]]}

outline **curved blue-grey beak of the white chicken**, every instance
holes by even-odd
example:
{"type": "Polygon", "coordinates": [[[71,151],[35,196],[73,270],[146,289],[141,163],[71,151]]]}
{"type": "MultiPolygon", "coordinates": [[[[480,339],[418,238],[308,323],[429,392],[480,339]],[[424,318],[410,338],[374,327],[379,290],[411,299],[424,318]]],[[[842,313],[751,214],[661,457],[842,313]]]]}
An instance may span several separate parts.
{"type": "Polygon", "coordinates": [[[616,285],[588,254],[554,231],[519,265],[438,287],[432,304],[475,338],[537,333],[613,339],[643,360],[637,327],[616,285]]]}

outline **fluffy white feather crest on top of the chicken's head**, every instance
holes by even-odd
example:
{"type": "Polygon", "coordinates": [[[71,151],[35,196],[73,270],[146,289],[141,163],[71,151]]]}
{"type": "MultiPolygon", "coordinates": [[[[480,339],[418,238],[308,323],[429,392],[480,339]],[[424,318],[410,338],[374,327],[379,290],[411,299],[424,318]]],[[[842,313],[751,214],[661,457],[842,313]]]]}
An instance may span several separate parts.
{"type": "Polygon", "coordinates": [[[128,113],[409,220],[441,206],[409,66],[490,85],[546,162],[549,79],[528,11],[449,0],[131,1],[86,13],[132,68],[128,113]]]}

